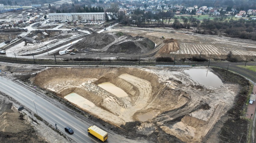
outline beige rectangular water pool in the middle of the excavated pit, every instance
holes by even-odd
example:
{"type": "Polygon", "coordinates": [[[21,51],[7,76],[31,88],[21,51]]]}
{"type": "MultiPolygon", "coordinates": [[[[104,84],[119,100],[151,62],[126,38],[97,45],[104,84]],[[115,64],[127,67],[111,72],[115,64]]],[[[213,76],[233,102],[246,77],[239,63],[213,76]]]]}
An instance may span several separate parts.
{"type": "Polygon", "coordinates": [[[126,97],[128,96],[126,92],[124,92],[121,88],[115,86],[114,84],[110,82],[104,82],[101,84],[98,84],[99,87],[103,88],[104,90],[114,94],[117,97],[126,97]]]}

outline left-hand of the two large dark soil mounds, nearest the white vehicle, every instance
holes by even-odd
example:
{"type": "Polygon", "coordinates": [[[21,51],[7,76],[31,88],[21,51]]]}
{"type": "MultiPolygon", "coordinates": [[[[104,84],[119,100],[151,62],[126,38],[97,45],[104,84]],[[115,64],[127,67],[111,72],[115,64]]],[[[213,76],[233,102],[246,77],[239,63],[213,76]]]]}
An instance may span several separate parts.
{"type": "Polygon", "coordinates": [[[84,49],[86,51],[91,49],[100,50],[113,41],[114,37],[109,34],[93,32],[75,43],[71,48],[84,49]]]}

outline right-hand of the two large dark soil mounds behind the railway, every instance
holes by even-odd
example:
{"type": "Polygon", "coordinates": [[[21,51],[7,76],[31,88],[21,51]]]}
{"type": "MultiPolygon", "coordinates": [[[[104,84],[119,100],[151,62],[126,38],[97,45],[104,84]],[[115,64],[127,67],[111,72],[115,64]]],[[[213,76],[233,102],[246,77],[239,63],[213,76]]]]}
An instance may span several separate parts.
{"type": "Polygon", "coordinates": [[[127,35],[127,37],[128,38],[124,42],[119,42],[110,46],[107,52],[126,54],[148,53],[148,51],[155,47],[155,43],[148,38],[141,36],[132,37],[130,35],[127,35]]]}

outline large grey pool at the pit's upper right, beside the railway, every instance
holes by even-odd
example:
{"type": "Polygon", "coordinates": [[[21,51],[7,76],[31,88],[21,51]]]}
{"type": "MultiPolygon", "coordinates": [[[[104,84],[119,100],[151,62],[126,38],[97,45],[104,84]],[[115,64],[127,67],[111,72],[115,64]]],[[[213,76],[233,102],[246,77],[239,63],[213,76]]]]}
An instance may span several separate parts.
{"type": "Polygon", "coordinates": [[[184,70],[184,72],[188,73],[191,79],[197,81],[199,84],[213,87],[219,87],[223,85],[221,79],[207,69],[190,69],[184,70]]]}

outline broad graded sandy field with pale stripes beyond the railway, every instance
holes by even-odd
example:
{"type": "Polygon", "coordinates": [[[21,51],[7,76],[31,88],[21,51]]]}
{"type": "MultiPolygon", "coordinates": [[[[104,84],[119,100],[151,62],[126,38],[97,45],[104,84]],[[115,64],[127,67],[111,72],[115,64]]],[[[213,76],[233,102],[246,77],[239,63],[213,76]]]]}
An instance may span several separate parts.
{"type": "MultiPolygon", "coordinates": [[[[200,35],[194,33],[179,33],[172,28],[139,28],[139,27],[122,27],[108,30],[108,32],[121,31],[123,33],[132,36],[144,36],[151,39],[156,45],[156,48],[162,53],[157,53],[155,56],[166,55],[166,45],[163,43],[163,39],[159,41],[161,36],[165,36],[166,39],[175,39],[178,41],[179,50],[169,50],[169,54],[178,54],[181,59],[187,58],[191,55],[201,55],[206,57],[213,57],[219,59],[226,59],[230,53],[238,59],[255,60],[256,56],[256,42],[252,40],[243,40],[230,37],[212,36],[212,35],[200,35]],[[157,40],[158,39],[158,40],[157,40]],[[163,48],[161,50],[161,48],[163,48]]],[[[150,52],[149,52],[150,53],[150,52]]],[[[147,55],[147,54],[145,54],[147,55]]]]}

